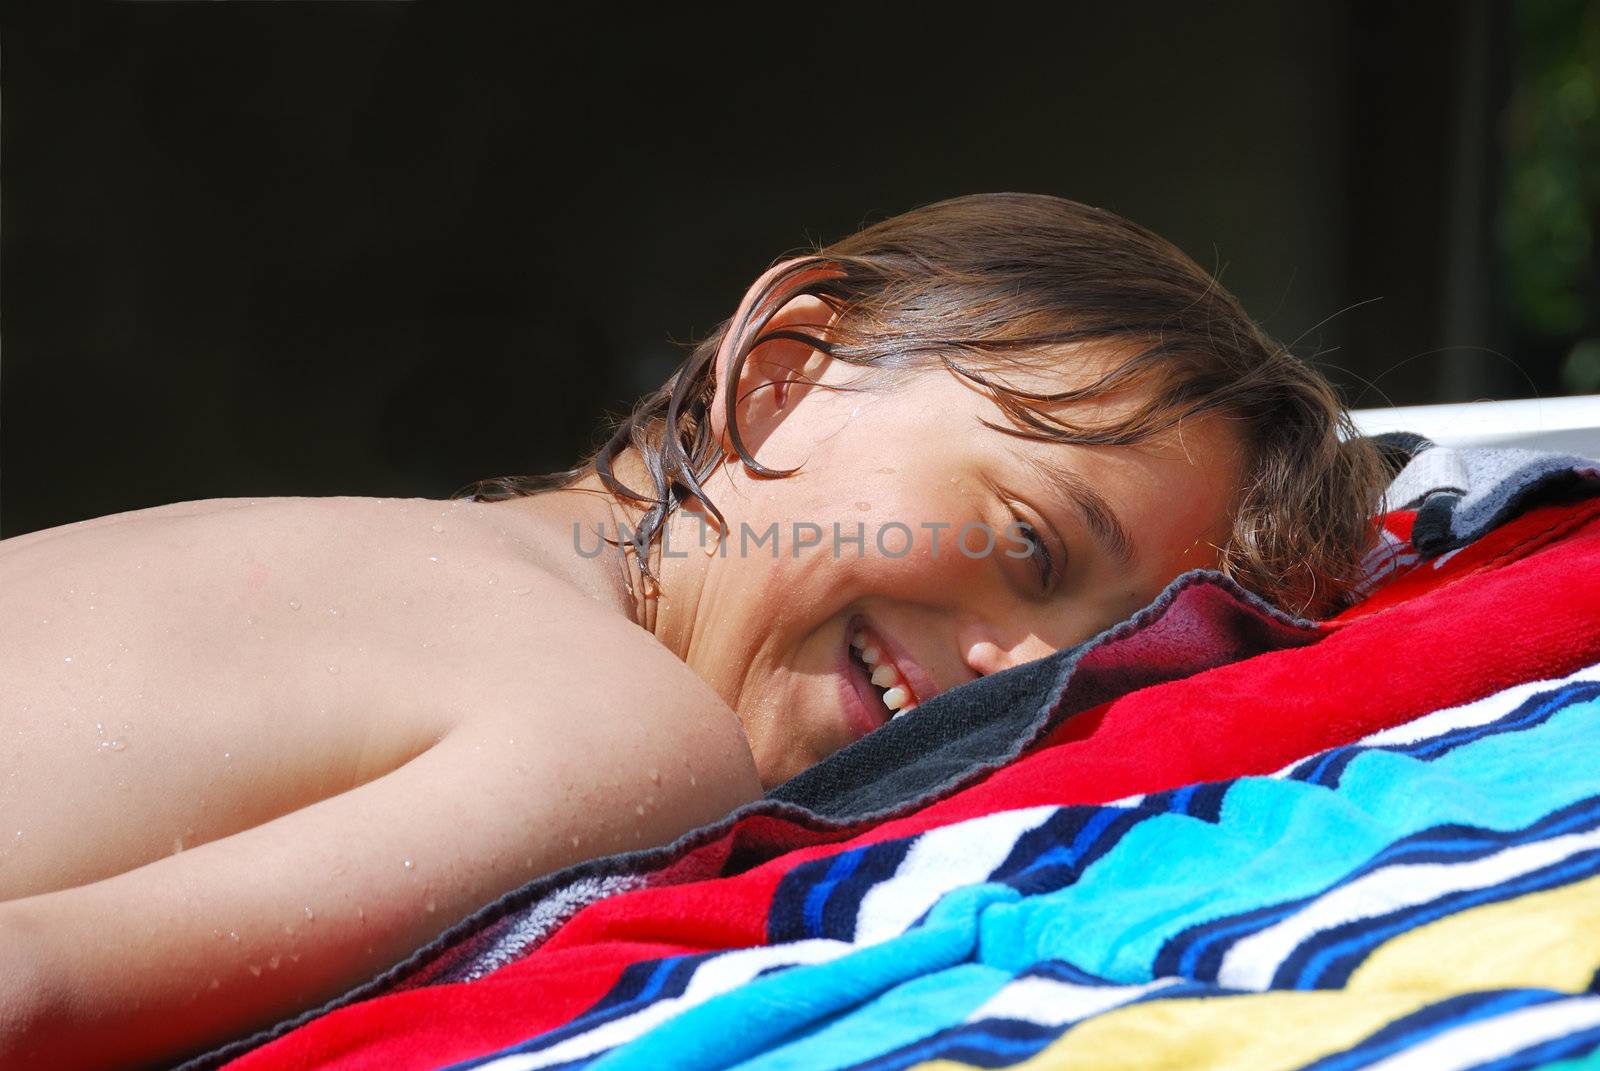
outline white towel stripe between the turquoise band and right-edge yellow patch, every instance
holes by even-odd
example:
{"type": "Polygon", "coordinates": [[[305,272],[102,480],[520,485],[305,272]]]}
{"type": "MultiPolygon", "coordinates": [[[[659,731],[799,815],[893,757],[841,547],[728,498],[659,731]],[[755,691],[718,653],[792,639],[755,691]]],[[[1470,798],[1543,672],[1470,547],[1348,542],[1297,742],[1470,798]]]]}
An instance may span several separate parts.
{"type": "Polygon", "coordinates": [[[1600,847],[1600,829],[1518,844],[1467,863],[1410,863],[1363,874],[1323,893],[1288,919],[1237,941],[1222,957],[1218,983],[1266,989],[1278,965],[1323,930],[1414,908],[1448,893],[1490,888],[1595,847],[1600,847]]]}

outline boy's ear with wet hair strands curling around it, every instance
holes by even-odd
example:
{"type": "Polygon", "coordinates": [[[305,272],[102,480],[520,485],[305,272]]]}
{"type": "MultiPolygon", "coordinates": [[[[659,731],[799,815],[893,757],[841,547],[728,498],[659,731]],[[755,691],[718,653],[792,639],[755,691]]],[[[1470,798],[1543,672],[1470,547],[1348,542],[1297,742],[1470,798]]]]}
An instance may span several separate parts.
{"type": "Polygon", "coordinates": [[[797,295],[797,291],[818,277],[837,275],[837,267],[818,263],[814,269],[784,277],[782,283],[760,303],[760,307],[755,307],[762,291],[786,271],[792,272],[798,263],[798,259],[790,259],[776,264],[755,280],[755,285],[746,291],[744,301],[739,303],[739,311],[730,322],[728,335],[717,351],[717,392],[710,405],[710,426],[726,456],[738,456],[728,427],[730,394],[736,399],[739,440],[747,451],[755,453],[760,443],[794,411],[800,399],[811,391],[811,383],[821,376],[830,360],[827,354],[803,341],[770,336],[798,331],[826,338],[827,328],[835,319],[832,307],[821,298],[797,295]],[[778,311],[762,323],[762,317],[774,306],[778,311]],[[739,368],[738,383],[730,383],[728,375],[734,355],[746,339],[755,344],[739,368]]]}

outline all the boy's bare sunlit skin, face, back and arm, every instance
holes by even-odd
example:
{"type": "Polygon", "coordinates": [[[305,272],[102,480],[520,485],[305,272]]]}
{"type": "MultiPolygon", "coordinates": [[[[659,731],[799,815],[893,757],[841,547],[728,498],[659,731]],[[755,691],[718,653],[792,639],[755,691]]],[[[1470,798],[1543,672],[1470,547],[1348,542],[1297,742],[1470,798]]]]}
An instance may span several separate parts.
{"type": "MultiPolygon", "coordinates": [[[[822,312],[802,298],[771,327],[822,312]]],[[[504,503],[181,503],[0,543],[0,1063],[168,1060],[317,1005],[534,876],[669,844],[874,728],[851,621],[925,703],[1123,620],[1229,528],[1221,419],[1030,442],[944,370],[888,386],[795,341],[757,347],[738,397],[747,447],[798,472],[752,475],[718,403],[706,490],[734,536],[778,522],[782,554],[704,554],[690,503],[654,588],[579,552],[574,527],[640,517],[594,475],[504,503]],[[1045,461],[1098,491],[1130,562],[1045,461]],[[1018,519],[1048,584],[1014,543],[955,546],[1018,519]],[[829,536],[797,557],[795,522],[829,536]],[[832,554],[834,522],[866,527],[861,557],[832,554]],[[875,548],[890,522],[902,557],[875,548]],[[938,557],[925,523],[950,525],[938,557]]]]}

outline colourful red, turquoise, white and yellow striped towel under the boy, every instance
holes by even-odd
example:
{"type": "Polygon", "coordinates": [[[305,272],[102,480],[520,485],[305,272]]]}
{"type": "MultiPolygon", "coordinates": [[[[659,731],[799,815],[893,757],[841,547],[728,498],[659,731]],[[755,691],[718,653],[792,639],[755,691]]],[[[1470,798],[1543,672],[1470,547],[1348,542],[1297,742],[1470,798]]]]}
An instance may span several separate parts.
{"type": "MultiPolygon", "coordinates": [[[[189,1066],[1477,1066],[1485,1031],[1520,1060],[1496,1066],[1587,1052],[1600,600],[1571,578],[1600,565],[1600,503],[1482,515],[1427,557],[1421,509],[1392,514],[1371,597],[1315,626],[1181,578],[978,682],[1000,717],[1008,676],[1035,704],[1026,754],[968,748],[885,804],[846,749],[819,808],[762,800],[534,882],[189,1066]]],[[[938,720],[934,743],[981,736],[938,720]]]]}

